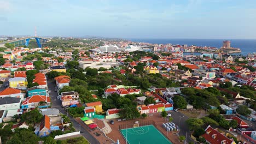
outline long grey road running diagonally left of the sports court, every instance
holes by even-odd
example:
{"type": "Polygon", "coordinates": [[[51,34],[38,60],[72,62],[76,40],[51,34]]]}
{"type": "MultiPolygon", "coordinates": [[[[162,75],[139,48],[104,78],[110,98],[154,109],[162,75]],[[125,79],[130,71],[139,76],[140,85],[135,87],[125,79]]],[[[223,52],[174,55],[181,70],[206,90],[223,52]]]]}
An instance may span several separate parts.
{"type": "MultiPolygon", "coordinates": [[[[58,109],[58,110],[60,110],[60,112],[62,114],[67,115],[67,112],[65,111],[65,109],[62,109],[62,107],[61,107],[61,100],[57,99],[58,94],[57,94],[57,92],[54,91],[54,89],[55,89],[54,83],[52,81],[48,80],[47,85],[48,85],[48,88],[51,90],[51,92],[50,92],[51,104],[52,104],[51,108],[58,109]]],[[[79,131],[80,124],[77,121],[75,121],[75,119],[73,117],[71,117],[70,115],[68,115],[68,117],[70,118],[70,121],[72,122],[73,127],[79,131]]],[[[93,144],[100,143],[84,127],[80,127],[80,134],[83,135],[85,137],[85,139],[87,139],[90,143],[93,143],[93,144]]]]}

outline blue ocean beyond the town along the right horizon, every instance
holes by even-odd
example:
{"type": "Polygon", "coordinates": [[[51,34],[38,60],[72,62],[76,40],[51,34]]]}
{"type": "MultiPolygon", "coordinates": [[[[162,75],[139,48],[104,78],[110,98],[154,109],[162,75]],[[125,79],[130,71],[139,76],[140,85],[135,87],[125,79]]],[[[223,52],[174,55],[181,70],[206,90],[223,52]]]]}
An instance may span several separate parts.
{"type": "Polygon", "coordinates": [[[238,55],[246,56],[248,53],[256,52],[256,39],[129,39],[136,42],[144,42],[151,44],[179,44],[179,45],[196,45],[211,46],[220,48],[224,40],[231,41],[231,47],[241,49],[238,55]]]}

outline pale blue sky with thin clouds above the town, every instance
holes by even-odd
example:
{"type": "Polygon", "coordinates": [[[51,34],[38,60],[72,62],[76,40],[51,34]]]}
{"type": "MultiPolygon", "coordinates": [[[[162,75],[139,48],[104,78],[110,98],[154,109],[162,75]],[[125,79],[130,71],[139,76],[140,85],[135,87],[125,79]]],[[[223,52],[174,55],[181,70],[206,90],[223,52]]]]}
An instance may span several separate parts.
{"type": "Polygon", "coordinates": [[[256,39],[255,0],[0,0],[0,35],[256,39]]]}

